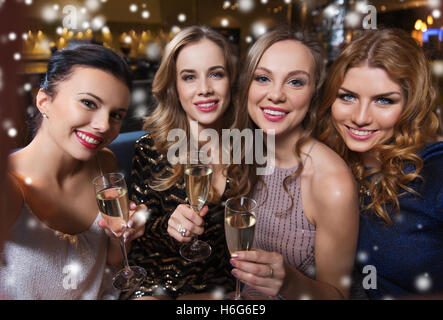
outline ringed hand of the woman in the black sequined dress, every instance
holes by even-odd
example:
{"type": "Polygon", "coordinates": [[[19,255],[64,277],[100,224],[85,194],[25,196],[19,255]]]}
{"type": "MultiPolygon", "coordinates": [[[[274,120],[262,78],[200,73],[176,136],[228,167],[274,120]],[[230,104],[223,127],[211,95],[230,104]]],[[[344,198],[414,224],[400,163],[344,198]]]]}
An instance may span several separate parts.
{"type": "Polygon", "coordinates": [[[204,229],[204,217],[208,213],[204,206],[200,213],[195,212],[189,205],[181,204],[168,220],[168,233],[178,242],[189,242],[194,235],[201,235],[204,229]]]}

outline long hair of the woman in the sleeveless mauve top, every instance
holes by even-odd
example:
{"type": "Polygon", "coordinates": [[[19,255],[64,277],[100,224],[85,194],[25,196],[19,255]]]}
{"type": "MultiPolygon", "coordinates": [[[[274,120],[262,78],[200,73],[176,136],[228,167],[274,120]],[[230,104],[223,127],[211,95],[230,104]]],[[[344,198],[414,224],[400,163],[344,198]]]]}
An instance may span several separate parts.
{"type": "MultiPolygon", "coordinates": [[[[247,112],[249,88],[251,86],[252,80],[254,79],[255,70],[257,69],[260,59],[265,51],[273,44],[284,40],[298,41],[309,49],[314,61],[315,81],[315,89],[311,98],[311,104],[305,118],[301,123],[301,126],[303,127],[302,135],[300,139],[296,143],[294,143],[293,152],[297,158],[298,168],[294,174],[286,177],[283,181],[283,188],[288,193],[292,202],[291,207],[288,209],[290,210],[293,206],[294,201],[292,195],[289,193],[289,190],[287,188],[287,181],[299,175],[303,169],[303,162],[301,159],[301,147],[308,141],[314,131],[317,122],[317,110],[320,97],[319,89],[321,88],[325,79],[324,49],[315,35],[307,31],[293,29],[287,25],[281,25],[265,33],[259,39],[257,39],[257,41],[249,49],[248,54],[243,61],[242,69],[239,73],[238,91],[234,102],[237,110],[233,127],[240,130],[243,130],[245,128],[257,129],[257,126],[251,120],[247,112]]],[[[288,52],[288,54],[291,53],[288,52]]],[[[293,54],[296,53],[294,52],[293,54]]],[[[229,167],[228,172],[230,173],[230,175],[237,177],[236,182],[238,184],[233,186],[233,188],[236,188],[239,194],[250,193],[257,181],[261,180],[255,173],[256,168],[257,165],[255,163],[251,165],[233,164],[229,167]]]]}

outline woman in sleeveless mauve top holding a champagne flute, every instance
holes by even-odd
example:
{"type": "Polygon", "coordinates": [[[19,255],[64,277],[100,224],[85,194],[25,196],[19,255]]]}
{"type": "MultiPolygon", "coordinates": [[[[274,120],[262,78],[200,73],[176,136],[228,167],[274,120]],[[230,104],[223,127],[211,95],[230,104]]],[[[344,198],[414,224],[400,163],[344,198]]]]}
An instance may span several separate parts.
{"type": "MultiPolygon", "coordinates": [[[[344,161],[312,137],[324,68],[317,39],[284,26],[260,37],[244,61],[234,127],[259,128],[275,138],[272,173],[258,176],[257,164],[229,168],[244,177],[236,193],[251,190],[259,203],[253,250],[231,259],[246,297],[349,296],[356,186],[344,161]]],[[[272,154],[274,146],[263,147],[272,154]]]]}

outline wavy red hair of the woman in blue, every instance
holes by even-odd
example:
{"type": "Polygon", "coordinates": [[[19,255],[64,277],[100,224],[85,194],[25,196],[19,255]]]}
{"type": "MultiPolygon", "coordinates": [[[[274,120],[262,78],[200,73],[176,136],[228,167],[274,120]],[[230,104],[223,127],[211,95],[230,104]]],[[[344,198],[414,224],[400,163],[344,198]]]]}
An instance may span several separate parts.
{"type": "Polygon", "coordinates": [[[433,107],[435,92],[429,63],[419,45],[406,32],[382,29],[366,32],[352,41],[333,63],[328,74],[318,114],[318,138],[332,147],[351,167],[360,185],[361,197],[365,190],[370,192],[372,201],[364,209],[374,211],[389,225],[392,220],[386,206],[393,205],[394,210],[398,211],[398,197],[403,192],[416,193],[407,185],[420,178],[423,161],[417,153],[427,142],[436,140],[438,119],[433,107]],[[347,148],[331,115],[331,106],[346,72],[361,65],[386,71],[399,84],[406,101],[392,138],[373,148],[381,167],[370,170],[365,169],[359,153],[347,148]],[[415,171],[405,172],[406,166],[410,165],[415,167],[415,171]],[[371,175],[380,179],[368,181],[367,177],[371,175]]]}

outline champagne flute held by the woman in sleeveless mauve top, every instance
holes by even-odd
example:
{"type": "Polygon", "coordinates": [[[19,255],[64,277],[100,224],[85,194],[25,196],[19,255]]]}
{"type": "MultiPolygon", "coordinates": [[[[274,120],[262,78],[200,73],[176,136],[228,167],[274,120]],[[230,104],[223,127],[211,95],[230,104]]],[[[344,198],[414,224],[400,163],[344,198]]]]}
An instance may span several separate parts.
{"type": "MultiPolygon", "coordinates": [[[[251,249],[254,241],[257,201],[247,197],[229,198],[225,205],[225,234],[229,252],[251,249]]],[[[240,281],[235,285],[234,300],[242,300],[240,281]]]]}

